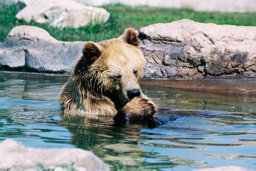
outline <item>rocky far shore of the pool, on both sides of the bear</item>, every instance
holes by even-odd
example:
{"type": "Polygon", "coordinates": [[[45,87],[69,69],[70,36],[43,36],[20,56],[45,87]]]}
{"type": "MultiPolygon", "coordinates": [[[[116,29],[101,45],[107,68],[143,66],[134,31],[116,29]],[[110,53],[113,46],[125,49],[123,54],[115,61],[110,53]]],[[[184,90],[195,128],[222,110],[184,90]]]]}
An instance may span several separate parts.
{"type": "MultiPolygon", "coordinates": [[[[256,27],[183,19],[139,29],[143,78],[256,78],[256,27]]],[[[0,42],[0,69],[67,73],[84,42],[65,42],[33,26],[13,28],[0,42]]]]}

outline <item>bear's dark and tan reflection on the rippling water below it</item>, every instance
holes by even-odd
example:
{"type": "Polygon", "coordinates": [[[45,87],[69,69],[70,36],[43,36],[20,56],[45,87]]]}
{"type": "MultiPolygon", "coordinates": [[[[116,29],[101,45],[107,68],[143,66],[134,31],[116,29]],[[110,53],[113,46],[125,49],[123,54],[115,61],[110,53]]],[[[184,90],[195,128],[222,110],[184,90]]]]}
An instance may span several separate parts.
{"type": "Polygon", "coordinates": [[[145,148],[138,145],[142,125],[116,127],[112,118],[89,119],[62,117],[61,125],[73,134],[72,144],[93,151],[113,168],[134,168],[144,161],[145,148]]]}

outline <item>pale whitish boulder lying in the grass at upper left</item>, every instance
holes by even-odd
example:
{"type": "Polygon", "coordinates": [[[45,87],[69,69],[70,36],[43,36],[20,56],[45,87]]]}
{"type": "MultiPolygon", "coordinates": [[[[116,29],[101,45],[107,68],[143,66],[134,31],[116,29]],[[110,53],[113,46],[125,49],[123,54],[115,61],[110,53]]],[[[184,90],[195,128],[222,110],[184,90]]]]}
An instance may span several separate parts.
{"type": "Polygon", "coordinates": [[[61,28],[105,23],[110,17],[110,13],[103,8],[86,6],[72,0],[19,0],[17,10],[20,10],[16,14],[17,19],[26,22],[35,20],[37,23],[49,23],[61,28]]]}

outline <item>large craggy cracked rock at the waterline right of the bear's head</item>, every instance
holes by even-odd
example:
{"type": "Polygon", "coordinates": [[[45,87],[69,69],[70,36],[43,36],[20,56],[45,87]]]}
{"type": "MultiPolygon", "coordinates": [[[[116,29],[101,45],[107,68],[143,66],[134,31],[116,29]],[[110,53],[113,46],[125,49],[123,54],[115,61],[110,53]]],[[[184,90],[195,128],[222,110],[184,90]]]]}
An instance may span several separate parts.
{"type": "Polygon", "coordinates": [[[188,19],[141,28],[144,77],[255,77],[255,33],[256,27],[188,19]],[[171,68],[175,74],[167,75],[171,68]]]}

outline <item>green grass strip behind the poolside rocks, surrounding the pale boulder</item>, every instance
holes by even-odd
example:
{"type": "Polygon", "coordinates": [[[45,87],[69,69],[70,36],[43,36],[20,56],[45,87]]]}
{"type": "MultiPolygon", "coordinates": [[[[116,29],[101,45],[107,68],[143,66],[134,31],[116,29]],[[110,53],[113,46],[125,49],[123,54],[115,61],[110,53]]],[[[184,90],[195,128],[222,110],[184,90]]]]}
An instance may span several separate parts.
{"type": "Polygon", "coordinates": [[[153,7],[130,7],[124,5],[103,6],[111,14],[105,24],[89,25],[74,28],[53,28],[48,24],[26,23],[16,20],[16,7],[2,6],[0,10],[0,41],[4,41],[9,31],[19,25],[37,26],[47,30],[54,38],[62,41],[100,41],[121,35],[125,28],[139,29],[156,23],[170,23],[175,20],[188,18],[202,23],[228,24],[238,26],[256,26],[256,13],[224,13],[197,12],[190,9],[168,9],[153,7]]]}

